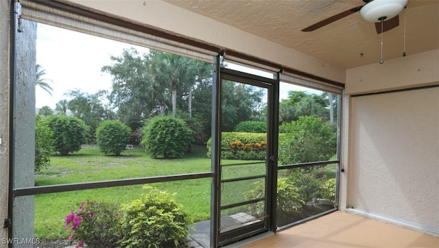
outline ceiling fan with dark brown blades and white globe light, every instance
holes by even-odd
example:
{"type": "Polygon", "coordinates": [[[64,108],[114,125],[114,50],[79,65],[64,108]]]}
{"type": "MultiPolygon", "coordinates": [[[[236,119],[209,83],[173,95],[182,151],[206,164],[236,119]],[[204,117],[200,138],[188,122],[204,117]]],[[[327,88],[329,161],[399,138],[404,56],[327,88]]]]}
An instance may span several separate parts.
{"type": "Polygon", "coordinates": [[[349,16],[355,12],[360,12],[361,17],[365,21],[375,23],[377,34],[386,32],[399,25],[398,14],[405,8],[408,0],[363,0],[366,4],[359,5],[350,10],[346,10],[335,16],[324,19],[316,24],[302,29],[302,32],[311,32],[320,27],[324,27],[340,20],[346,16],[349,16]]]}

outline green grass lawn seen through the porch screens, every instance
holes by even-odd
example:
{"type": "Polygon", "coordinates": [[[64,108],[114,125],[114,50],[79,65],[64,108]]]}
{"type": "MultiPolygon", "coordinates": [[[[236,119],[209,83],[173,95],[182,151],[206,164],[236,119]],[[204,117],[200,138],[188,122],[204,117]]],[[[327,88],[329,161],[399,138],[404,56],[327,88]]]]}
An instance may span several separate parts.
{"type": "MultiPolygon", "coordinates": [[[[191,154],[178,159],[152,159],[143,149],[123,152],[123,156],[104,156],[93,146],[86,146],[71,156],[51,157],[51,164],[36,175],[36,186],[96,182],[110,179],[152,177],[158,175],[176,175],[211,171],[211,159],[206,157],[205,147],[193,147],[191,154]]],[[[243,161],[222,160],[224,164],[243,161]]],[[[250,162],[250,161],[245,161],[250,162]]],[[[255,161],[260,162],[260,161],[255,161]]],[[[327,166],[331,167],[330,165],[327,166]]],[[[334,166],[335,167],[335,166],[334,166]]],[[[328,169],[331,173],[332,169],[328,169]]],[[[335,171],[335,170],[334,170],[335,171]]],[[[261,175],[265,173],[265,164],[246,164],[224,166],[223,179],[261,175]]],[[[335,177],[335,172],[334,172],[335,177]]],[[[244,199],[243,193],[252,189],[252,182],[226,182],[222,184],[222,205],[236,203],[244,199]],[[239,190],[239,192],[237,192],[239,190]]],[[[152,184],[169,193],[176,193],[178,203],[191,216],[193,221],[210,219],[211,179],[191,179],[176,182],[152,184]]],[[[35,199],[35,235],[43,240],[65,239],[69,232],[63,229],[64,218],[77,210],[83,201],[129,203],[139,199],[143,185],[78,190],[64,193],[36,195],[35,199]]],[[[231,209],[233,210],[233,209],[231,209]]]]}

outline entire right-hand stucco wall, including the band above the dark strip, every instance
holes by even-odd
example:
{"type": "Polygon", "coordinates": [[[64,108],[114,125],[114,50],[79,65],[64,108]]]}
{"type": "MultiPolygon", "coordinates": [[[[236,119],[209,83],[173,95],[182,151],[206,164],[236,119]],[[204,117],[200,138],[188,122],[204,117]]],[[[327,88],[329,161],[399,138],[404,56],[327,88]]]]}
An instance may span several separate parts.
{"type": "MultiPolygon", "coordinates": [[[[438,66],[434,50],[350,69],[346,94],[438,84],[438,66]]],[[[345,100],[340,206],[439,235],[439,88],[345,100]]]]}

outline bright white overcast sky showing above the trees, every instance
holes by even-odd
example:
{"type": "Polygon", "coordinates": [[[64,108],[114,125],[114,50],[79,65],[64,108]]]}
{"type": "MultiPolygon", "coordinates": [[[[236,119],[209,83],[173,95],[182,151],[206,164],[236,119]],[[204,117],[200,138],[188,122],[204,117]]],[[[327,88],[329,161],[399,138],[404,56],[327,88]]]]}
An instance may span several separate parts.
{"type": "MultiPolygon", "coordinates": [[[[99,90],[111,90],[111,75],[102,73],[103,66],[111,65],[110,56],[121,55],[123,49],[134,47],[139,53],[145,47],[130,45],[115,40],[73,32],[38,23],[36,38],[36,64],[45,70],[44,79],[54,89],[52,95],[36,87],[36,108],[49,106],[68,97],[69,90],[81,90],[93,94],[99,90]]],[[[289,84],[281,85],[281,99],[289,90],[307,90],[289,84]]],[[[308,89],[309,90],[309,89],[308,89]]],[[[318,91],[311,91],[318,92],[318,91]]]]}

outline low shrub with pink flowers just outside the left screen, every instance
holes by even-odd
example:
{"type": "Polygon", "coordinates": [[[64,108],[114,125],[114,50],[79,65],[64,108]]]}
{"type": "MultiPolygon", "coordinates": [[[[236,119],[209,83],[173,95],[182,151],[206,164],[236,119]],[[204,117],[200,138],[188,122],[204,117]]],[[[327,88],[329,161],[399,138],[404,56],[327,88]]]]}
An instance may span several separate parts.
{"type": "Polygon", "coordinates": [[[64,230],[70,230],[69,240],[75,247],[118,247],[121,238],[119,206],[101,201],[80,203],[80,208],[65,218],[64,230]]]}

